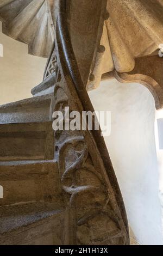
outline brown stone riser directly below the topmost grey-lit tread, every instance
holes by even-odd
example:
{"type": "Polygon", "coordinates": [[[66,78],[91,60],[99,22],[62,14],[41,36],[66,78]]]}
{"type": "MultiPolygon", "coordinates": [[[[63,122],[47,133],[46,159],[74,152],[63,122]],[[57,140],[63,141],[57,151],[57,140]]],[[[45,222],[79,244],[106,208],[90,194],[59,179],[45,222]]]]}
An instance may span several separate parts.
{"type": "Polygon", "coordinates": [[[53,160],[52,121],[0,125],[0,161],[53,160]]]}

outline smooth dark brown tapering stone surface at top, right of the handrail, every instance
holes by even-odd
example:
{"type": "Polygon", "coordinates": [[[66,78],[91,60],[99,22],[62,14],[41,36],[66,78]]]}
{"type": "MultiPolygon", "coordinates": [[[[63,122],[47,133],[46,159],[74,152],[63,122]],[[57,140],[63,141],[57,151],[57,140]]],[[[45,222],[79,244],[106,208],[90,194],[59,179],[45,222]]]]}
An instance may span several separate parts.
{"type": "Polygon", "coordinates": [[[90,72],[95,65],[95,54],[102,36],[105,1],[73,0],[68,1],[67,4],[72,47],[86,86],[90,72]]]}

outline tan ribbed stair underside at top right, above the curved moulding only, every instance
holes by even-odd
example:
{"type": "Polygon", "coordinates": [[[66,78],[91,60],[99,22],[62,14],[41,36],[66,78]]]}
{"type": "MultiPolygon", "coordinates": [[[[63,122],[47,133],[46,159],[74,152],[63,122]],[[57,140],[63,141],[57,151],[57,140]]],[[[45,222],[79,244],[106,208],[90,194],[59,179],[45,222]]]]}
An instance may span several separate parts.
{"type": "Polygon", "coordinates": [[[134,68],[134,58],[147,56],[162,44],[162,1],[108,0],[107,10],[110,16],[106,27],[115,69],[129,72],[134,68]]]}

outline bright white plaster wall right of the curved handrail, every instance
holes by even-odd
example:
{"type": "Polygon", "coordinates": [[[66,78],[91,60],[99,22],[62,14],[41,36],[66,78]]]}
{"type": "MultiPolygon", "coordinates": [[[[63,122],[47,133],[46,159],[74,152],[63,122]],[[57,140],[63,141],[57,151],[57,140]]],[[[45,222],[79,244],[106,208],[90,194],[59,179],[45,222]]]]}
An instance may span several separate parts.
{"type": "Polygon", "coordinates": [[[101,82],[89,96],[95,110],[111,111],[105,142],[135,237],[141,245],[162,245],[153,96],[141,84],[116,80],[101,82]]]}

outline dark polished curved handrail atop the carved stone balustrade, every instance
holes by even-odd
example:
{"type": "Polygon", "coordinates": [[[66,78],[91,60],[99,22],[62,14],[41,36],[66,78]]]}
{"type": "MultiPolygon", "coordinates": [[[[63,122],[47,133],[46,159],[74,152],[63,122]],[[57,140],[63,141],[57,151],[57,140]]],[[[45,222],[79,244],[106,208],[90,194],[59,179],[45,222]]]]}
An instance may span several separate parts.
{"type": "MultiPolygon", "coordinates": [[[[84,111],[91,111],[92,113],[95,109],[92,106],[90,101],[89,95],[87,94],[86,88],[82,82],[82,78],[80,76],[80,72],[78,70],[78,65],[76,62],[76,58],[73,53],[73,48],[71,45],[70,35],[68,33],[67,24],[66,24],[66,10],[65,10],[65,1],[60,1],[60,12],[59,12],[59,19],[58,19],[58,32],[60,34],[60,42],[62,44],[62,50],[65,56],[66,65],[68,71],[71,75],[73,80],[74,86],[77,90],[78,97],[82,103],[84,111]]],[[[93,120],[95,121],[95,120],[93,120]]],[[[94,124],[93,124],[94,125],[94,124]]],[[[108,149],[106,148],[104,138],[101,136],[101,130],[99,131],[92,131],[93,138],[97,144],[99,153],[103,159],[104,165],[106,170],[109,168],[110,172],[108,171],[109,179],[111,184],[114,184],[115,192],[117,194],[117,202],[120,205],[120,208],[123,210],[123,199],[121,196],[120,189],[117,184],[117,179],[114,173],[114,169],[111,164],[111,160],[108,154],[108,149]]],[[[124,222],[127,223],[126,213],[124,212],[124,222]]]]}

